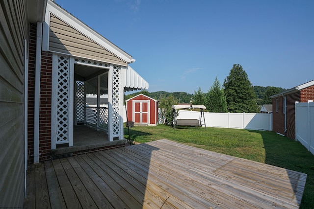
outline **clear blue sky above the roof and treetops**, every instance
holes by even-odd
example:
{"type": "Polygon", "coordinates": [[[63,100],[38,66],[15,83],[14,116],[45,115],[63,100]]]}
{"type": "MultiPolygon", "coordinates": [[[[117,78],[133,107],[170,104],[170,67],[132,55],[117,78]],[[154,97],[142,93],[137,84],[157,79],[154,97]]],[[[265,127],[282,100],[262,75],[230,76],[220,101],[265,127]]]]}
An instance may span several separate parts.
{"type": "Polygon", "coordinates": [[[314,0],[55,0],[129,53],[149,92],[207,92],[240,64],[253,86],[314,80],[314,0]]]}

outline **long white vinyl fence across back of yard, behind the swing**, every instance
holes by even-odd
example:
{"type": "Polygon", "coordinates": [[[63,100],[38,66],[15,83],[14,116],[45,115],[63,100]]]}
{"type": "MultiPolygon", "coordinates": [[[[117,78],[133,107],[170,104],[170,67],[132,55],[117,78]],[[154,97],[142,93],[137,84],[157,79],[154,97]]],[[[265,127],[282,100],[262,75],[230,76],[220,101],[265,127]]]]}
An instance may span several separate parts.
{"type": "MultiPolygon", "coordinates": [[[[207,127],[272,131],[272,114],[204,113],[207,127]]],[[[178,119],[200,119],[200,112],[179,110],[178,119]]],[[[202,121],[204,124],[204,121],[202,121]]]]}

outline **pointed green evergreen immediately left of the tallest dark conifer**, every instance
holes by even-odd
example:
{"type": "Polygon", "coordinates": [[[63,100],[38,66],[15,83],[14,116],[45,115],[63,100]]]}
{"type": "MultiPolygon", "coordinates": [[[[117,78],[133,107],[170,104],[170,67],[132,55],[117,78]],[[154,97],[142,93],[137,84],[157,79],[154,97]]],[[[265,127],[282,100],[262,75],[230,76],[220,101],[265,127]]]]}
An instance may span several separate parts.
{"type": "Polygon", "coordinates": [[[205,106],[212,113],[227,113],[227,101],[224,90],[217,77],[212,83],[210,90],[205,95],[205,106]]]}

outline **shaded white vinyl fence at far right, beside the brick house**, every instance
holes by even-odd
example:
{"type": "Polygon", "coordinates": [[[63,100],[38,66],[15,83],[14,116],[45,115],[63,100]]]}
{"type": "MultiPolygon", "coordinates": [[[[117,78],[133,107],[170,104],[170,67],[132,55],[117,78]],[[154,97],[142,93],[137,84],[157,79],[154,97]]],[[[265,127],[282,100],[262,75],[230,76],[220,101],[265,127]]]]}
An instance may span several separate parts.
{"type": "Polygon", "coordinates": [[[314,102],[295,103],[295,140],[314,154],[314,102]]]}

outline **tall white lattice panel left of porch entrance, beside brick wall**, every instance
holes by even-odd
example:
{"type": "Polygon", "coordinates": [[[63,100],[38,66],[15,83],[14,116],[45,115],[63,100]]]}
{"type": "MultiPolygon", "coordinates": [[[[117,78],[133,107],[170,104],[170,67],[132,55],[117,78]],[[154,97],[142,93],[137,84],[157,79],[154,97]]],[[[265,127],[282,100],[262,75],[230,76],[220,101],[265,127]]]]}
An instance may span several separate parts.
{"type": "Polygon", "coordinates": [[[56,144],[69,142],[69,70],[69,57],[59,55],[57,75],[56,144]]]}

